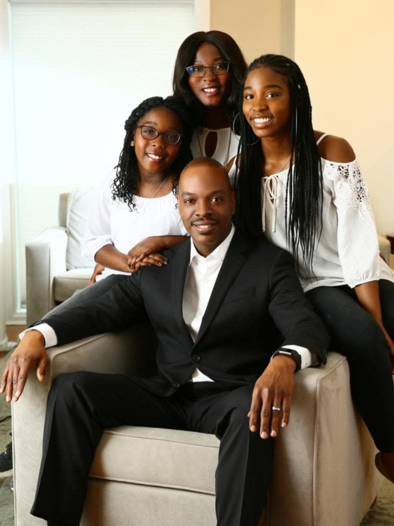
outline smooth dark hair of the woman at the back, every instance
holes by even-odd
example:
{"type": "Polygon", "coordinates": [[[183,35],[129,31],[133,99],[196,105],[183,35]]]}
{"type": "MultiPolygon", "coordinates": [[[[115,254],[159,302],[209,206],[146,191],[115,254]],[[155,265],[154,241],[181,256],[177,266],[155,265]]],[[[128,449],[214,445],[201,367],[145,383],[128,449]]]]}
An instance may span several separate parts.
{"type": "Polygon", "coordinates": [[[231,90],[226,101],[226,112],[230,120],[234,119],[237,111],[238,94],[247,68],[239,45],[233,37],[223,33],[223,31],[198,31],[185,38],[179,47],[175,60],[172,87],[174,96],[184,100],[190,109],[195,126],[203,124],[204,108],[190,89],[189,74],[186,72],[186,67],[193,64],[198,48],[205,42],[216,46],[224,58],[230,62],[231,90]]]}

